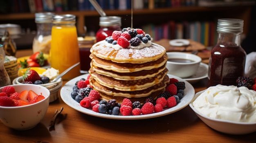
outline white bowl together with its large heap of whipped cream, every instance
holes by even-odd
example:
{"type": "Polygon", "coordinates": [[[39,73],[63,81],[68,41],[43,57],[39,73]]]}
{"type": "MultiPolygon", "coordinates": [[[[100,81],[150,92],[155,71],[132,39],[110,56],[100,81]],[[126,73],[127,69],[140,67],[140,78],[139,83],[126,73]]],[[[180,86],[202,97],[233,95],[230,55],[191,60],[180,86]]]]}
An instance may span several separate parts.
{"type": "Polygon", "coordinates": [[[256,91],[236,86],[211,86],[189,104],[209,127],[226,134],[256,132],[256,91]]]}

